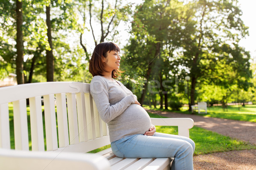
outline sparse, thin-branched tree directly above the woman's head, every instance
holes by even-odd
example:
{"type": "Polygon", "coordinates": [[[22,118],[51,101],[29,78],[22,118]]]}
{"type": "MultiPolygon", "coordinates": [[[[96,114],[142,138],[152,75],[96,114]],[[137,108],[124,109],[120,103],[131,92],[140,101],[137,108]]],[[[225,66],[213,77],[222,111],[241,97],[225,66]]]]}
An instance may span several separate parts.
{"type": "MultiPolygon", "coordinates": [[[[130,13],[129,7],[130,4],[122,4],[122,0],[112,1],[105,0],[88,0],[81,1],[79,6],[79,11],[83,17],[83,26],[80,26],[80,44],[83,47],[85,53],[87,53],[87,48],[83,43],[82,35],[85,31],[91,31],[93,36],[95,46],[107,40],[114,40],[114,37],[118,34],[116,31],[117,26],[121,21],[128,19],[128,14],[130,13]],[[86,18],[85,10],[89,11],[89,19],[86,18]],[[88,21],[88,24],[87,24],[88,21]],[[96,23],[96,26],[93,26],[93,21],[96,23]],[[96,31],[99,31],[100,34],[95,34],[96,31]]],[[[88,57],[89,60],[89,57],[88,57]]]]}

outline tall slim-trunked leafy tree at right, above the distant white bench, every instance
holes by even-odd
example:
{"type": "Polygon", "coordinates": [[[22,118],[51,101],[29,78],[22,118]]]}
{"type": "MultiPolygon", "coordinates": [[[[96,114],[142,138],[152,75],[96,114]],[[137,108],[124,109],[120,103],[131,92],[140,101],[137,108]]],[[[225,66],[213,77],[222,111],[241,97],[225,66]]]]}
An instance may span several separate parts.
{"type": "MultiPolygon", "coordinates": [[[[217,65],[218,60],[239,63],[241,58],[250,57],[237,45],[240,38],[247,34],[247,27],[240,18],[241,10],[236,6],[237,2],[237,0],[196,0],[191,3],[196,11],[195,16],[192,16],[193,20],[197,21],[196,31],[191,35],[190,41],[184,43],[184,57],[180,60],[189,68],[189,75],[192,78],[191,105],[195,104],[195,88],[198,80],[209,79],[207,76],[212,77],[213,72],[222,69],[217,65]],[[235,51],[237,55],[234,54],[235,51]]],[[[232,67],[231,63],[227,62],[223,66],[232,67]]],[[[244,63],[248,66],[246,61],[241,65],[244,63]]],[[[241,70],[235,71],[238,73],[241,70]]],[[[218,74],[218,77],[222,75],[218,74]]]]}

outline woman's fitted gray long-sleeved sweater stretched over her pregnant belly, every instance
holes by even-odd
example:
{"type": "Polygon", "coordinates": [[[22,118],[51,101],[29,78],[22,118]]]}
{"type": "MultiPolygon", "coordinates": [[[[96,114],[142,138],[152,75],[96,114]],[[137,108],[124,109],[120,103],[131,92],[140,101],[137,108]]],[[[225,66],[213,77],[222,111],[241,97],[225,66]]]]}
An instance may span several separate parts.
{"type": "Polygon", "coordinates": [[[111,142],[124,136],[144,134],[151,127],[148,113],[134,104],[136,96],[121,82],[94,76],[90,82],[90,94],[102,120],[108,123],[111,142]]]}

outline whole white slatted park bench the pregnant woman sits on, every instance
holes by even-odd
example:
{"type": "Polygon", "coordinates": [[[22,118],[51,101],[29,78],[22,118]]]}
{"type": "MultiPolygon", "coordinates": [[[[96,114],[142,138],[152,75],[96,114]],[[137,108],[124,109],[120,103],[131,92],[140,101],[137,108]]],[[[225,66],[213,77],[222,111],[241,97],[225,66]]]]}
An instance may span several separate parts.
{"type": "MultiPolygon", "coordinates": [[[[169,169],[169,158],[124,159],[116,157],[111,148],[87,153],[110,144],[108,126],[98,115],[89,86],[41,82],[0,88],[0,170],[169,169]],[[10,128],[11,102],[14,127],[10,128]],[[14,133],[15,148],[11,147],[10,133],[14,133]]],[[[181,136],[189,136],[194,125],[189,118],[151,121],[154,125],[178,126],[181,136]]]]}

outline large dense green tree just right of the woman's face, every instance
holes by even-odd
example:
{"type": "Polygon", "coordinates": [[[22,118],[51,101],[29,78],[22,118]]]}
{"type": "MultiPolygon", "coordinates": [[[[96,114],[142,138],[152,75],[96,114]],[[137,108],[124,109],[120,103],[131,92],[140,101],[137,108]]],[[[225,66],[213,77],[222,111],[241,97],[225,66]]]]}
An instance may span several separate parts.
{"type": "Polygon", "coordinates": [[[132,21],[131,42],[126,47],[128,54],[125,62],[133,66],[128,70],[136,70],[130,75],[138,74],[144,78],[140,103],[144,102],[149,79],[153,78],[160,81],[158,90],[161,107],[163,96],[168,107],[168,94],[163,94],[166,90],[162,83],[172,78],[169,77],[170,69],[174,68],[174,65],[171,65],[174,63],[172,57],[175,50],[181,46],[180,39],[185,39],[186,34],[183,30],[189,18],[186,16],[188,14],[188,8],[176,0],[148,0],[137,6],[132,21]],[[154,77],[151,77],[152,73],[155,73],[154,77]]]}

